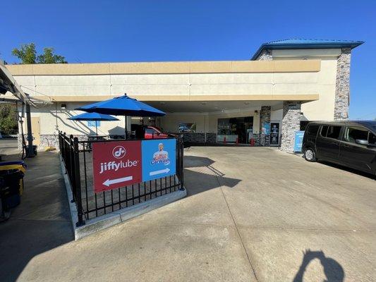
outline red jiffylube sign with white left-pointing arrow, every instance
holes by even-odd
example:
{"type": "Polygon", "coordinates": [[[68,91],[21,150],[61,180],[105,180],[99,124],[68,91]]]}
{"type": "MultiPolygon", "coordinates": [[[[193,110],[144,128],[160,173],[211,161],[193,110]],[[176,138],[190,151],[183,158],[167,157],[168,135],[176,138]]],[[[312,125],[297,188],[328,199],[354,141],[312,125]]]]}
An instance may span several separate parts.
{"type": "Polygon", "coordinates": [[[96,193],[140,183],[141,141],[92,143],[92,172],[96,193]]]}

